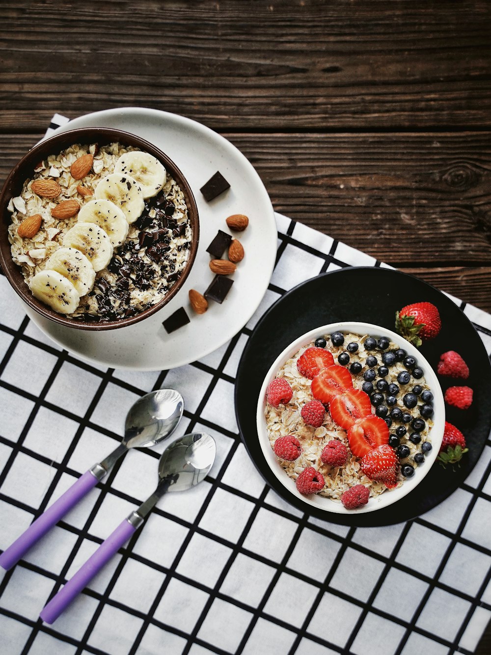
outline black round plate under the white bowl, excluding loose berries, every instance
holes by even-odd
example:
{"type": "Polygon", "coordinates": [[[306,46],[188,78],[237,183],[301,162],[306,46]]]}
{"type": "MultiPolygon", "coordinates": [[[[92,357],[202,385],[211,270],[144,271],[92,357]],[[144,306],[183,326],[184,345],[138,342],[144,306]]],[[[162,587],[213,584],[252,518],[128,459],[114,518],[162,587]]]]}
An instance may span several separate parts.
{"type": "MultiPolygon", "coordinates": [[[[375,267],[350,267],[319,275],[287,291],[259,320],[238,367],[235,386],[236,417],[242,440],[266,482],[300,510],[318,518],[354,526],[391,525],[424,514],[447,498],[464,481],[481,455],[491,428],[491,367],[473,325],[441,291],[408,274],[375,267]],[[433,369],[440,355],[456,350],[469,365],[465,382],[439,376],[443,392],[448,386],[467,384],[474,390],[465,411],[446,406],[446,420],[465,435],[469,452],[459,467],[443,468],[438,462],[422,482],[393,505],[367,514],[335,514],[302,504],[276,479],[259,445],[256,412],[264,377],[280,352],[302,334],[338,321],[362,321],[394,328],[395,312],[409,303],[436,305],[442,329],[420,348],[433,369]]],[[[422,464],[424,466],[424,464],[422,464]]]]}

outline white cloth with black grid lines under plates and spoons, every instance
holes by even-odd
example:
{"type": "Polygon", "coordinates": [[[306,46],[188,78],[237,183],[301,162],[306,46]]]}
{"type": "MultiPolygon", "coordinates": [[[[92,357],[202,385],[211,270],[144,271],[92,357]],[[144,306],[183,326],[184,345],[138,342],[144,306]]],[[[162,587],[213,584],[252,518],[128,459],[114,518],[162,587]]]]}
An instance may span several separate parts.
{"type": "MultiPolygon", "coordinates": [[[[383,266],[281,215],[277,222],[276,267],[255,316],[227,345],[170,371],[82,362],[37,330],[0,277],[1,548],[112,449],[126,409],[150,390],[181,391],[186,409],[175,436],[204,429],[218,449],[206,481],[164,498],[64,615],[43,624],[38,614],[48,598],[155,487],[158,449],[120,460],[0,577],[0,652],[470,655],[475,649],[491,616],[491,548],[482,529],[491,518],[491,441],[440,506],[375,529],[334,525],[292,508],[245,453],[232,392],[257,320],[319,272],[383,266]]],[[[490,353],[491,316],[458,303],[490,353]]]]}

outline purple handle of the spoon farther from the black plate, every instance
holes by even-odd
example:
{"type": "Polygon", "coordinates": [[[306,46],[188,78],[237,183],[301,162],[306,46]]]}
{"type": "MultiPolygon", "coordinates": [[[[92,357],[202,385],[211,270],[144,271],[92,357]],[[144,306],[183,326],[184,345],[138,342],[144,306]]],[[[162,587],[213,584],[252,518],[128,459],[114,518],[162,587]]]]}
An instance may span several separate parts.
{"type": "Polygon", "coordinates": [[[37,517],[27,530],[0,555],[0,566],[9,571],[41,537],[52,528],[62,516],[81,500],[98,483],[98,478],[86,471],[64,495],[60,496],[46,512],[37,517]]]}

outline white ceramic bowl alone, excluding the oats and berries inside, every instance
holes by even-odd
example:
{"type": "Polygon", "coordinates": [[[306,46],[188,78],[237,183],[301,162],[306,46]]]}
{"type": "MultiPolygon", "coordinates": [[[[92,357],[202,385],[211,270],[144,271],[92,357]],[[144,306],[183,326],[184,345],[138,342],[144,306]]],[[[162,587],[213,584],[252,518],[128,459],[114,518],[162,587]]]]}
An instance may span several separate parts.
{"type": "MultiPolygon", "coordinates": [[[[257,403],[257,434],[259,436],[259,443],[261,444],[261,449],[263,451],[264,458],[270,466],[274,475],[282,483],[282,485],[288,489],[290,493],[297,496],[299,500],[302,500],[304,504],[314,506],[318,509],[325,510],[325,512],[334,512],[335,514],[365,514],[365,512],[374,512],[375,510],[380,510],[383,507],[397,502],[400,498],[407,495],[418,485],[422,479],[429,472],[431,466],[437,458],[438,451],[441,446],[441,441],[443,439],[443,430],[445,428],[445,403],[443,400],[443,393],[440,387],[440,384],[437,380],[435,372],[428,364],[424,356],[415,348],[409,341],[406,341],[401,335],[392,332],[391,330],[386,329],[385,327],[375,326],[369,323],[331,323],[327,326],[316,327],[316,329],[310,330],[306,334],[299,337],[291,343],[283,352],[278,355],[276,360],[271,365],[266,377],[264,378],[263,386],[261,387],[261,393],[259,394],[259,401],[257,403]],[[408,355],[412,355],[416,358],[418,366],[420,366],[424,371],[424,377],[431,392],[433,393],[433,428],[429,434],[431,438],[431,445],[433,448],[425,457],[424,464],[416,466],[414,470],[414,476],[408,477],[405,479],[403,485],[399,488],[386,489],[384,493],[376,496],[376,498],[370,498],[369,502],[359,507],[355,510],[346,510],[344,505],[341,502],[336,502],[330,498],[323,498],[317,494],[303,495],[297,490],[297,485],[291,477],[287,476],[286,472],[283,470],[280,462],[276,458],[274,451],[270,445],[268,439],[268,434],[266,432],[266,421],[264,420],[264,408],[266,407],[266,388],[268,384],[276,377],[278,369],[291,358],[302,346],[308,345],[312,341],[315,341],[318,337],[323,335],[331,334],[333,332],[344,332],[344,333],[354,333],[357,335],[370,335],[373,337],[387,337],[393,343],[397,343],[400,348],[404,348],[407,351],[408,355]]],[[[308,508],[306,508],[308,511],[308,508]]]]}

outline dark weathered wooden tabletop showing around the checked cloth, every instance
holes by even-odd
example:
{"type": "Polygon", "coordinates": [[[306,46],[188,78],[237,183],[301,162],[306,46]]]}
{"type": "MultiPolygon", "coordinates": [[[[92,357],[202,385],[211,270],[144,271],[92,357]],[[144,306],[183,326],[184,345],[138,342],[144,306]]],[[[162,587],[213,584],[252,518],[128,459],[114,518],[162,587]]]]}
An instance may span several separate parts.
{"type": "Polygon", "coordinates": [[[486,1],[5,0],[0,18],[2,181],[54,111],[165,109],[232,141],[278,212],[491,311],[486,1]]]}

